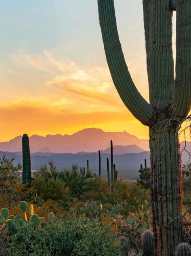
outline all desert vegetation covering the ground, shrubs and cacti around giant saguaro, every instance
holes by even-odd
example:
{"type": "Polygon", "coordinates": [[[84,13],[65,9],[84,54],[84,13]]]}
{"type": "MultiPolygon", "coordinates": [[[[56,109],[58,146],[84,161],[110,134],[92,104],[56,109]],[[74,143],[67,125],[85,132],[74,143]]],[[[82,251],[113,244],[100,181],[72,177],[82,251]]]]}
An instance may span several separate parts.
{"type": "MultiPolygon", "coordinates": [[[[101,169],[94,175],[88,165],[58,171],[51,159],[32,177],[26,134],[22,142],[23,166],[14,166],[14,159],[6,156],[0,159],[0,255],[154,255],[146,160],[140,179],[119,179],[111,141],[107,179],[101,177],[101,169]]],[[[99,152],[99,166],[100,162],[99,152]]],[[[191,206],[190,171],[190,164],[183,166],[185,210],[191,206]]],[[[189,212],[186,219],[189,222],[189,212]]],[[[177,255],[190,252],[187,241],[189,226],[177,255]]]]}

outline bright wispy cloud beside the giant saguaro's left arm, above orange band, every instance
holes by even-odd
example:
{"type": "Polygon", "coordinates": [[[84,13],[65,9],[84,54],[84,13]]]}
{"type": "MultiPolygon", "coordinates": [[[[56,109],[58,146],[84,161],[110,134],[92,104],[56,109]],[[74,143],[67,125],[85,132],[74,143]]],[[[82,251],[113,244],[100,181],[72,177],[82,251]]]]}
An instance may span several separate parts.
{"type": "Polygon", "coordinates": [[[61,102],[67,102],[72,108],[80,106],[82,110],[101,108],[109,111],[110,108],[110,111],[116,111],[123,108],[107,67],[79,67],[71,60],[56,59],[47,50],[40,55],[19,51],[17,56],[13,56],[13,62],[48,74],[42,85],[43,92],[47,94],[54,88],[60,89],[60,99],[55,97],[55,101],[49,104],[51,106],[61,107],[61,102]],[[51,74],[52,78],[49,78],[51,74]],[[61,95],[62,91],[64,95],[61,95]]]}

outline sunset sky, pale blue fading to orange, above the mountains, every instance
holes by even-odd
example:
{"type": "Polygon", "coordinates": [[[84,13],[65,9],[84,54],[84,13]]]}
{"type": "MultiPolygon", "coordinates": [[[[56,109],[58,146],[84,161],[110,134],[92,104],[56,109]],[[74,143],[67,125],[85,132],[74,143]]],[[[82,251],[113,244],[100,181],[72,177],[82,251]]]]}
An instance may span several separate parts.
{"type": "MultiPolygon", "coordinates": [[[[142,0],[115,0],[128,68],[148,101],[142,0]]],[[[97,0],[8,0],[0,9],[0,141],[88,127],[148,138],[105,59],[97,0]]]]}

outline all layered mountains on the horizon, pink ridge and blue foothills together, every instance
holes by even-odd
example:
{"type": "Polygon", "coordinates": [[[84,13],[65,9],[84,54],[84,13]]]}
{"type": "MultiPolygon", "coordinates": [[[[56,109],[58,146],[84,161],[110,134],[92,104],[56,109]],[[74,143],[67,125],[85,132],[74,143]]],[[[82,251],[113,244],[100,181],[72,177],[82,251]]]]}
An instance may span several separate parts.
{"type": "MultiPolygon", "coordinates": [[[[148,140],[139,139],[124,132],[104,132],[101,129],[84,129],[73,135],[33,135],[29,137],[32,169],[38,170],[50,159],[55,161],[58,170],[67,170],[77,163],[80,167],[87,165],[98,173],[98,151],[101,152],[102,176],[107,176],[106,159],[110,159],[110,140],[113,140],[113,158],[119,177],[136,179],[139,177],[140,164],[147,159],[149,165],[150,152],[148,140]]],[[[191,142],[181,142],[182,161],[189,160],[191,142]]],[[[22,136],[8,142],[0,142],[0,157],[14,157],[14,163],[22,163],[22,136]]]]}

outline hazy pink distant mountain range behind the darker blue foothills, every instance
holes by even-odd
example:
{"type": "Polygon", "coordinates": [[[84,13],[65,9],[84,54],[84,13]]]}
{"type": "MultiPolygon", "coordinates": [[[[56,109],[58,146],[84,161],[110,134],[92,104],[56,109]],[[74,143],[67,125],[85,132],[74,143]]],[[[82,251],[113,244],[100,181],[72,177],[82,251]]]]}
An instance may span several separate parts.
{"type": "MultiPolygon", "coordinates": [[[[46,135],[45,137],[33,135],[29,138],[30,150],[33,153],[78,153],[82,151],[96,152],[98,150],[105,150],[108,148],[110,146],[110,140],[113,140],[113,145],[137,145],[142,151],[149,150],[148,140],[139,139],[126,131],[105,132],[101,129],[88,128],[73,133],[72,135],[56,134],[46,135]]],[[[0,151],[22,151],[22,136],[17,136],[8,142],[0,142],[0,151]]],[[[136,152],[135,149],[133,151],[136,152]]]]}

